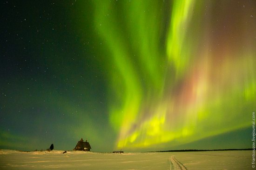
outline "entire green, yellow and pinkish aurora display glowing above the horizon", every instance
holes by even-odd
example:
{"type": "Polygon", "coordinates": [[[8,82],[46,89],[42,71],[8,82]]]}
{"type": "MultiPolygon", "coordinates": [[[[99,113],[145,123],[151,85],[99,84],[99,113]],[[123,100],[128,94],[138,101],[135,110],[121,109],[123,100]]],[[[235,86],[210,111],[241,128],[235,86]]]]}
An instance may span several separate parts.
{"type": "MultiPolygon", "coordinates": [[[[232,2],[222,3],[225,10],[232,2]]],[[[95,1],[116,148],[175,146],[251,125],[245,115],[256,101],[255,30],[245,33],[242,20],[230,19],[233,27],[210,22],[206,4],[215,5],[95,1]]]]}

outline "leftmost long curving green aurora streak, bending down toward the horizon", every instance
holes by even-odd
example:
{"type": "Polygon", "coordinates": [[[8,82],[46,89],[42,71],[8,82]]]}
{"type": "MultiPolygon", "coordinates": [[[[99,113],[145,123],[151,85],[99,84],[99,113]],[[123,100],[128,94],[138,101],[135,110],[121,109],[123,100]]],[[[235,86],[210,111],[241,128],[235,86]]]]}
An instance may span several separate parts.
{"type": "Polygon", "coordinates": [[[131,63],[131,54],[126,49],[127,43],[125,37],[121,34],[117,22],[111,17],[111,3],[100,1],[97,8],[100,13],[96,13],[97,29],[106,39],[110,49],[113,70],[110,71],[113,90],[117,95],[121,105],[110,107],[110,122],[118,129],[129,129],[129,125],[135,121],[141,104],[141,85],[139,83],[138,73],[131,63]],[[104,4],[102,4],[104,2],[104,4]],[[109,16],[110,15],[110,16],[109,16]]]}

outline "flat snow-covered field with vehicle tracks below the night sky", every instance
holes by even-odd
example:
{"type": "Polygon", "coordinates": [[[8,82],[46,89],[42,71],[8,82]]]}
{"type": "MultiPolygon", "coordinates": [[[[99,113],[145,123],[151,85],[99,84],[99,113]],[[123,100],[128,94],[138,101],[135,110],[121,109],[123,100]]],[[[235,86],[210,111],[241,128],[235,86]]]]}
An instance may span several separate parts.
{"type": "Polygon", "coordinates": [[[94,153],[0,150],[0,170],[251,170],[251,150],[94,153]]]}

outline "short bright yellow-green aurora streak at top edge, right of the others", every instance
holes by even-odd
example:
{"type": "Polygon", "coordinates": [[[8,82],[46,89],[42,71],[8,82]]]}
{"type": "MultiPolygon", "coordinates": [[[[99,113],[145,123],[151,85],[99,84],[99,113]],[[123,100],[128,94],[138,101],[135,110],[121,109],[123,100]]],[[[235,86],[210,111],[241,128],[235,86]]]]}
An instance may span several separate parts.
{"type": "Polygon", "coordinates": [[[167,35],[167,56],[175,65],[176,74],[182,73],[189,63],[189,52],[186,52],[189,46],[184,46],[184,39],[193,5],[194,0],[175,0],[173,3],[167,35]]]}

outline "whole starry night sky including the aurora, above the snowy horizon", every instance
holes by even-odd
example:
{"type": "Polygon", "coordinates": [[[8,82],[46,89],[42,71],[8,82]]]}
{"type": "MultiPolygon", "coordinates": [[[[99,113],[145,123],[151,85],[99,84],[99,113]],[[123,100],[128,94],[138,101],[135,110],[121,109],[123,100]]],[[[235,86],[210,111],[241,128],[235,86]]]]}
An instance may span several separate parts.
{"type": "Polygon", "coordinates": [[[0,148],[251,148],[255,0],[0,3],[0,148]]]}

